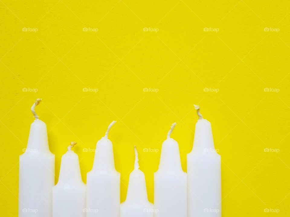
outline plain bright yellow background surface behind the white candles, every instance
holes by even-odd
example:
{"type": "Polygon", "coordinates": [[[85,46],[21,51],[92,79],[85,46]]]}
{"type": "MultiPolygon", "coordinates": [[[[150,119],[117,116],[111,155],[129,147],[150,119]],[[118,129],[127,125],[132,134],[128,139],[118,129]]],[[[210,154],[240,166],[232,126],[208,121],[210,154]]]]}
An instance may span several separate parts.
{"type": "Polygon", "coordinates": [[[161,144],[176,121],[172,137],[186,171],[199,104],[222,157],[223,216],[289,216],[289,12],[286,0],[1,0],[1,213],[17,216],[18,159],[30,107],[42,98],[37,113],[56,156],[56,182],[73,140],[86,182],[94,153],[83,149],[94,149],[116,120],[109,138],[121,201],[136,145],[153,202],[161,144]]]}

